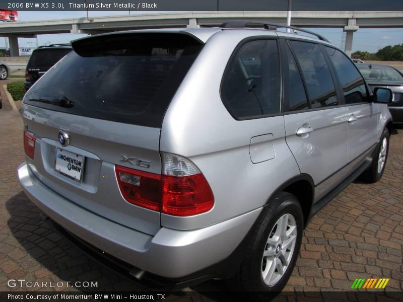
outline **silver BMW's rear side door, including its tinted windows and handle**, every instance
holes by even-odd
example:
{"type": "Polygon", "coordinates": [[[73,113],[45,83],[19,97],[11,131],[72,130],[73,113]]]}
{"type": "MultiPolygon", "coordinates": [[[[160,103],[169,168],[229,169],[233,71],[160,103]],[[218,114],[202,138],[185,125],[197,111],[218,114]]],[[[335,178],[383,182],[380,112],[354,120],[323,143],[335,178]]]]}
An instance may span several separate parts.
{"type": "Polygon", "coordinates": [[[323,183],[326,193],[334,183],[324,181],[347,165],[346,108],[340,106],[336,80],[317,44],[288,41],[282,51],[286,141],[301,173],[310,175],[315,186],[323,183]],[[317,107],[322,109],[309,110],[317,107]]]}

